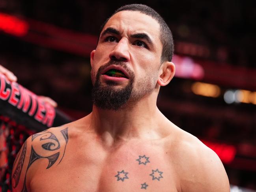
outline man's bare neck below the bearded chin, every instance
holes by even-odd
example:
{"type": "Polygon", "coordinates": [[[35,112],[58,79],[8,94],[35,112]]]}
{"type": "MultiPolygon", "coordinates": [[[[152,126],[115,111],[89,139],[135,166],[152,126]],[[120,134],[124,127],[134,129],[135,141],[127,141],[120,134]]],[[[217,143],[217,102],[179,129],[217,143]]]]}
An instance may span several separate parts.
{"type": "Polygon", "coordinates": [[[120,110],[103,110],[93,106],[91,125],[107,143],[133,138],[157,139],[159,120],[163,114],[156,106],[156,99],[146,98],[120,110]],[[155,101],[154,101],[155,100],[155,101]]]}

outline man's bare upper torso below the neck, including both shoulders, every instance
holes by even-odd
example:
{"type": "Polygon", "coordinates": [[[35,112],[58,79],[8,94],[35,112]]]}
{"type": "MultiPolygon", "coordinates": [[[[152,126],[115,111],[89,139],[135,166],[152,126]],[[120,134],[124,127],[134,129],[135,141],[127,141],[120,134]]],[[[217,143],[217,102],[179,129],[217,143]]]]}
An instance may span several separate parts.
{"type": "Polygon", "coordinates": [[[13,166],[13,192],[227,192],[228,179],[217,155],[189,138],[135,139],[106,152],[90,131],[51,128],[22,146],[13,166]]]}

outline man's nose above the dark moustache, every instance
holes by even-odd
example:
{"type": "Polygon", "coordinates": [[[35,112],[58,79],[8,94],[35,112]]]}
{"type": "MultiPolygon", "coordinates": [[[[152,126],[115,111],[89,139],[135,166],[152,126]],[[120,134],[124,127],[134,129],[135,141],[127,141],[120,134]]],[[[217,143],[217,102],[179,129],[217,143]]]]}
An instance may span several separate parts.
{"type": "Polygon", "coordinates": [[[122,60],[129,62],[130,52],[129,52],[129,40],[126,38],[120,39],[120,41],[114,47],[109,54],[110,59],[122,60]]]}

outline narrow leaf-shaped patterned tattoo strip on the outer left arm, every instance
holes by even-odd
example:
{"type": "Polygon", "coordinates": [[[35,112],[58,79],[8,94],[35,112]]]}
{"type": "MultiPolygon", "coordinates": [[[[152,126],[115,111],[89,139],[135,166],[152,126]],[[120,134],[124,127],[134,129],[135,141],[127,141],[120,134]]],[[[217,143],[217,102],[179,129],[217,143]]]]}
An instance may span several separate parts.
{"type": "MultiPolygon", "coordinates": [[[[22,148],[21,156],[19,158],[18,165],[13,173],[13,188],[16,188],[19,183],[19,180],[21,177],[21,170],[22,170],[24,160],[25,160],[26,149],[27,149],[27,142],[25,141],[23,148],[22,148]]],[[[17,159],[18,159],[18,156],[17,156],[17,159]]],[[[16,162],[14,162],[14,163],[16,163],[16,162]]]]}

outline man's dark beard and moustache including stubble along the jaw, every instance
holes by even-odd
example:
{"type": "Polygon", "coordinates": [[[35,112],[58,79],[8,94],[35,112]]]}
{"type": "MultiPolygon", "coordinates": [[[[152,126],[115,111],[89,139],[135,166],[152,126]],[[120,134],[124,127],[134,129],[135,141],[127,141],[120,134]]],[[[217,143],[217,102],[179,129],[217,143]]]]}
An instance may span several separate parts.
{"type": "Polygon", "coordinates": [[[102,65],[97,71],[96,78],[92,89],[93,104],[98,108],[105,110],[119,110],[127,106],[135,104],[144,95],[152,93],[156,82],[157,76],[153,78],[153,74],[149,75],[149,78],[143,78],[138,81],[138,89],[135,90],[135,74],[125,62],[119,60],[110,60],[110,62],[102,65]],[[120,65],[129,74],[129,83],[124,88],[115,88],[116,82],[107,81],[105,85],[101,84],[100,76],[102,71],[109,65],[120,65]],[[129,102],[128,102],[129,101],[129,102]]]}

